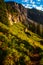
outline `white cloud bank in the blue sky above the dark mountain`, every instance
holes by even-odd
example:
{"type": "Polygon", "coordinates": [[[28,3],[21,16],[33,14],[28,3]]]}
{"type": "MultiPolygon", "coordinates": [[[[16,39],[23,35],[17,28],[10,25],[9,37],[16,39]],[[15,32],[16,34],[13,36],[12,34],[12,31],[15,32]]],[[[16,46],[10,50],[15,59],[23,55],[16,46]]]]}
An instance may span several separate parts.
{"type": "MultiPolygon", "coordinates": [[[[24,0],[24,2],[28,2],[28,0],[24,0]]],[[[23,4],[23,6],[25,6],[26,8],[36,8],[38,10],[42,10],[43,11],[43,6],[40,4],[41,0],[37,0],[37,2],[35,2],[35,0],[30,0],[29,3],[27,4],[23,4]],[[37,5],[40,4],[40,5],[37,5]]]]}

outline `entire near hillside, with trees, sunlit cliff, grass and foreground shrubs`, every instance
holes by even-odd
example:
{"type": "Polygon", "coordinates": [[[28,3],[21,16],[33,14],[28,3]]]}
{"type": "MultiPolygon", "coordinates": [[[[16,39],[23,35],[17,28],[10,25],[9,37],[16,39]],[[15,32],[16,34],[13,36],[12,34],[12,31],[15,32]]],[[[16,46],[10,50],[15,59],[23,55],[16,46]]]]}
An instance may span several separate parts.
{"type": "Polygon", "coordinates": [[[28,28],[27,14],[11,5],[0,1],[0,65],[43,65],[43,38],[28,28]]]}

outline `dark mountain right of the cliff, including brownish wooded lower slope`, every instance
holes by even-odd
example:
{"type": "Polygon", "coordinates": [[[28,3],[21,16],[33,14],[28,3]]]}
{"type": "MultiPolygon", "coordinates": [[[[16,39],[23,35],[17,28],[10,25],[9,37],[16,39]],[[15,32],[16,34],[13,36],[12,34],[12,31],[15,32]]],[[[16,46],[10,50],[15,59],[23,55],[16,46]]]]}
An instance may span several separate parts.
{"type": "Polygon", "coordinates": [[[43,34],[43,11],[36,10],[36,9],[27,9],[27,17],[33,21],[33,25],[35,25],[34,30],[38,34],[43,34]]]}

